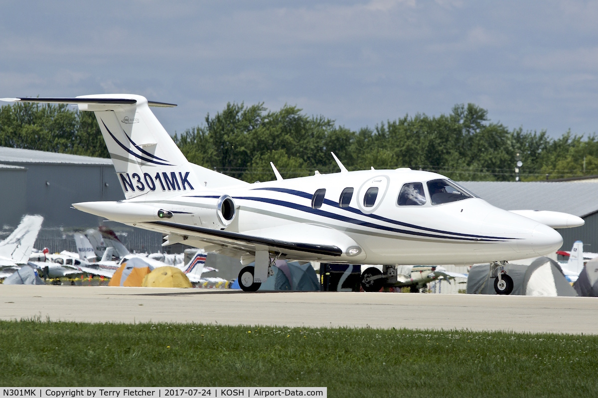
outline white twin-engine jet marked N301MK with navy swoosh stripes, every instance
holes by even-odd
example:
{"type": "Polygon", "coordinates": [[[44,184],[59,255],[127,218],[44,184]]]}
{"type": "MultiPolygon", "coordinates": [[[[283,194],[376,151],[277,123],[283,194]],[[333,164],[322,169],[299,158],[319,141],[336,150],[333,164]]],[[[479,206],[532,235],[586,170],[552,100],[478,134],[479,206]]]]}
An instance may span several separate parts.
{"type": "Polygon", "coordinates": [[[239,273],[244,291],[256,291],[281,258],[387,269],[491,262],[496,291],[508,294],[505,261],[554,252],[563,240],[551,227],[584,224],[570,214],[496,208],[434,172],[348,171],[334,154],[340,172],[285,180],[270,163],[275,181],[248,184],[188,162],[149,109],[175,105],[141,95],[4,100],[95,112],[126,199],[73,206],[167,234],[164,245],[184,242],[244,265],[255,261],[239,273]]]}

